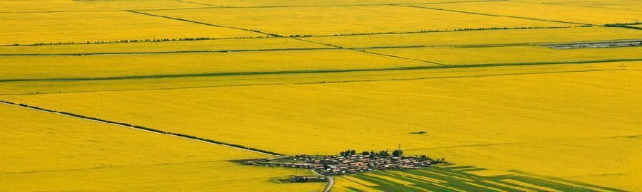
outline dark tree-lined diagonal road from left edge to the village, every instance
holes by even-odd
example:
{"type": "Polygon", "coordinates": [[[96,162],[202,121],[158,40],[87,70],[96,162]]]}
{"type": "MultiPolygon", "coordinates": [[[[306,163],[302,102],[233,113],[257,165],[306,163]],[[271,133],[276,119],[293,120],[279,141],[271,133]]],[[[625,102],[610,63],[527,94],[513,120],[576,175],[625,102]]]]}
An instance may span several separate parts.
{"type": "Polygon", "coordinates": [[[116,125],[116,126],[119,126],[119,127],[126,127],[126,128],[130,128],[130,129],[138,129],[138,130],[145,131],[145,132],[151,132],[151,133],[156,133],[156,134],[165,134],[165,135],[169,135],[169,136],[173,136],[173,137],[180,137],[180,138],[183,138],[183,139],[190,139],[190,140],[197,141],[197,142],[205,142],[205,143],[208,143],[208,144],[217,144],[217,145],[220,145],[220,146],[228,146],[228,147],[231,147],[231,148],[234,148],[234,149],[251,151],[251,152],[255,152],[255,153],[259,153],[259,154],[265,154],[265,155],[270,155],[270,156],[284,156],[284,154],[279,154],[279,153],[272,152],[272,151],[266,151],[266,150],[263,150],[263,149],[255,149],[255,148],[252,148],[252,147],[242,146],[242,145],[239,145],[239,144],[229,144],[229,143],[225,143],[225,142],[214,141],[214,140],[211,140],[211,139],[195,137],[195,136],[191,136],[191,135],[187,135],[187,134],[180,134],[180,133],[174,133],[174,132],[165,132],[165,131],[162,131],[160,129],[142,127],[142,126],[127,124],[127,123],[123,123],[123,122],[114,122],[114,121],[105,120],[105,119],[98,119],[96,117],[87,117],[87,116],[84,116],[84,115],[73,114],[73,113],[70,113],[70,112],[58,112],[56,110],[47,110],[47,109],[44,109],[44,108],[41,108],[41,107],[34,107],[34,106],[31,106],[31,105],[26,105],[26,104],[16,104],[14,102],[9,102],[9,101],[5,101],[5,100],[0,100],[0,103],[4,104],[4,105],[14,106],[14,107],[23,107],[23,108],[26,108],[26,109],[36,110],[36,111],[39,111],[39,112],[49,112],[49,113],[52,113],[52,114],[61,114],[61,115],[67,116],[67,117],[74,117],[74,118],[78,118],[78,119],[86,119],[86,120],[90,120],[90,121],[93,121],[93,122],[100,122],[100,123],[104,123],[104,124],[112,124],[112,125],[116,125]]]}

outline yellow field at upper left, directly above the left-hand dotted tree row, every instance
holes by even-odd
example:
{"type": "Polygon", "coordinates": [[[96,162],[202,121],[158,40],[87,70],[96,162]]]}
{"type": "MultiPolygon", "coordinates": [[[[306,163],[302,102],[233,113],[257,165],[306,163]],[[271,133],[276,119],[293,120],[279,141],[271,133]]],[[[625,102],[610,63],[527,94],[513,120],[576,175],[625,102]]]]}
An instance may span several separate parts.
{"type": "Polygon", "coordinates": [[[250,31],[201,26],[126,11],[0,13],[0,21],[3,23],[0,25],[0,45],[263,36],[250,31]]]}

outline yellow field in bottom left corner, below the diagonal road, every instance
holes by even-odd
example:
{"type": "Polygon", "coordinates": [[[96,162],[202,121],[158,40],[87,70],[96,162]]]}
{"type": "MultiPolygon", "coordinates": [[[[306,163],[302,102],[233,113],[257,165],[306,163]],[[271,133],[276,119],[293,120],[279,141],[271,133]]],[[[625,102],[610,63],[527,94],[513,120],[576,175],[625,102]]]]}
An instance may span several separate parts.
{"type": "Polygon", "coordinates": [[[0,104],[0,191],[318,191],[275,183],[296,169],[228,160],[267,155],[0,104]]]}

